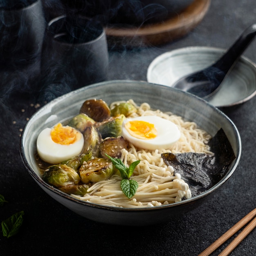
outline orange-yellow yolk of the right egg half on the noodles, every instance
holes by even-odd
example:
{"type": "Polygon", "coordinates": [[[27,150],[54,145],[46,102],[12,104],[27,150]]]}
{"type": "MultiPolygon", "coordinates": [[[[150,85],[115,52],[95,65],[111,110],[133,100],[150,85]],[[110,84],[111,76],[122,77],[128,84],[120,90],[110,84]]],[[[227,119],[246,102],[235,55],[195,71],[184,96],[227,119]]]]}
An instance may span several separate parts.
{"type": "Polygon", "coordinates": [[[154,139],[157,137],[157,130],[154,124],[146,121],[129,121],[125,124],[126,130],[138,139],[154,139]]]}

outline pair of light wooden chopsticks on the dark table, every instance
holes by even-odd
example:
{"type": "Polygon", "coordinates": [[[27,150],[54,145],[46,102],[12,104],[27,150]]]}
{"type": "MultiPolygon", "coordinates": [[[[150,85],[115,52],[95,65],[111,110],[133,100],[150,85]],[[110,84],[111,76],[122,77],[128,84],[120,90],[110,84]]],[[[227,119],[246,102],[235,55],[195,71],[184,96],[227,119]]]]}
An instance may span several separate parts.
{"type": "MultiPolygon", "coordinates": [[[[225,234],[218,238],[214,243],[212,243],[208,248],[201,252],[198,256],[208,256],[213,251],[215,251],[220,245],[225,243],[231,236],[236,234],[236,232],[244,227],[252,218],[256,216],[256,208],[249,212],[245,217],[239,220],[233,227],[231,227],[225,234]]],[[[241,233],[222,251],[219,256],[229,255],[230,252],[236,248],[236,246],[256,227],[256,217],[252,220],[247,227],[241,231],[241,233]]]]}

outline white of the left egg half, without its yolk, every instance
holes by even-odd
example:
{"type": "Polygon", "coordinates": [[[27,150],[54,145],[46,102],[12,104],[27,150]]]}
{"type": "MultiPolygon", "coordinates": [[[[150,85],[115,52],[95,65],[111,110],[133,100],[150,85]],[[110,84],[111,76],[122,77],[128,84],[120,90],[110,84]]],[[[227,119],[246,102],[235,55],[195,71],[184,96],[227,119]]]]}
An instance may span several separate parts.
{"type": "Polygon", "coordinates": [[[42,130],[36,141],[38,155],[43,161],[58,164],[81,153],[84,142],[82,134],[80,139],[73,144],[61,145],[52,140],[51,130],[50,128],[42,130]]]}

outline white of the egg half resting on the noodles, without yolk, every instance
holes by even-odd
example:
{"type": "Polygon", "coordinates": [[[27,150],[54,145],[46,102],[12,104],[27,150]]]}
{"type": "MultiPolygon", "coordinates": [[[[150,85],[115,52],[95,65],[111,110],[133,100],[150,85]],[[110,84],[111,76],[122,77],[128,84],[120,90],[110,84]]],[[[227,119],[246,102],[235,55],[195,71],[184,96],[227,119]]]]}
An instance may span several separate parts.
{"type": "Polygon", "coordinates": [[[142,116],[142,117],[134,117],[127,118],[123,122],[122,128],[122,136],[130,141],[134,146],[138,148],[144,148],[148,150],[155,149],[168,149],[170,148],[176,141],[180,139],[180,130],[173,122],[157,117],[157,116],[142,116]],[[153,139],[139,139],[130,135],[128,130],[125,128],[125,124],[128,121],[141,120],[146,121],[150,124],[154,124],[157,130],[157,137],[153,139]]]}

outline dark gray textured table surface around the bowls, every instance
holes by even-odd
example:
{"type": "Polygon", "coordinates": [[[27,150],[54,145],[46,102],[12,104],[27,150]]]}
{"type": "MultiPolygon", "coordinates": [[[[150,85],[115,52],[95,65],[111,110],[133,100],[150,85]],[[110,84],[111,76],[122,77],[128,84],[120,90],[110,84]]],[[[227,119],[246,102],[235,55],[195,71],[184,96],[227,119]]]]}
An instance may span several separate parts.
{"type": "MultiPolygon", "coordinates": [[[[110,50],[108,80],[146,80],[147,67],[155,57],[180,47],[227,48],[254,22],[255,0],[213,0],[202,22],[179,40],[157,47],[110,50]]],[[[256,42],[244,53],[254,62],[255,49],[256,42]]],[[[50,198],[27,173],[19,154],[22,128],[42,105],[21,94],[0,97],[0,194],[8,201],[0,207],[0,221],[18,211],[25,212],[18,234],[6,238],[0,231],[0,255],[194,256],[256,207],[256,97],[223,110],[234,121],[242,141],[242,155],[234,175],[197,209],[150,227],[97,223],[50,198]]],[[[256,230],[231,255],[256,255],[255,241],[256,230]]],[[[212,255],[218,255],[226,246],[212,255]]]]}

